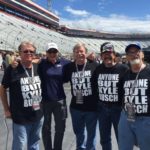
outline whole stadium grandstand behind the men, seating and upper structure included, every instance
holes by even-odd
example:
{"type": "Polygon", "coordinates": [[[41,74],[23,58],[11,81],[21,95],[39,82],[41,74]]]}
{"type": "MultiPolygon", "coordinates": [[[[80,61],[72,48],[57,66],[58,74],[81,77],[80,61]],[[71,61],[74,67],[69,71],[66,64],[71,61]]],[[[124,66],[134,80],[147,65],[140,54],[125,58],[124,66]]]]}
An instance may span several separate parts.
{"type": "Polygon", "coordinates": [[[58,16],[29,0],[0,0],[0,32],[1,51],[15,51],[25,40],[35,43],[38,53],[48,42],[56,42],[62,54],[72,53],[77,42],[85,43],[89,51],[96,53],[106,41],[112,42],[119,53],[131,42],[150,48],[148,34],[102,33],[61,26],[58,16]]]}

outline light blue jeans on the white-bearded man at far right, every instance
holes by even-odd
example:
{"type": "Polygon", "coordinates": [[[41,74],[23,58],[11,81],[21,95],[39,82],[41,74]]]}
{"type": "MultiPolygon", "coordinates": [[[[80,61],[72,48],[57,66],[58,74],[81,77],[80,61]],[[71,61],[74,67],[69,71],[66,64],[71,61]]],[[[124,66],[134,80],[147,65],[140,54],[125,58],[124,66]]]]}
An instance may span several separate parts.
{"type": "Polygon", "coordinates": [[[135,143],[140,150],[150,150],[150,117],[137,117],[135,122],[129,122],[122,111],[118,131],[119,150],[133,150],[135,143]]]}

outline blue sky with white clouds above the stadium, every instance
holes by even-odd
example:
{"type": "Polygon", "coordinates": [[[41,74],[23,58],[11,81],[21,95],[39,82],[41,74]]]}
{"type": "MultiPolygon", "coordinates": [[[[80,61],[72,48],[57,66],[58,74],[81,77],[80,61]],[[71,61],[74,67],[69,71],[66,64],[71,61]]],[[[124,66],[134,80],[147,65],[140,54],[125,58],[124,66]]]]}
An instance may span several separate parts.
{"type": "MultiPolygon", "coordinates": [[[[33,0],[47,9],[47,0],[33,0]]],[[[60,24],[112,33],[150,33],[149,0],[52,0],[60,24]]]]}

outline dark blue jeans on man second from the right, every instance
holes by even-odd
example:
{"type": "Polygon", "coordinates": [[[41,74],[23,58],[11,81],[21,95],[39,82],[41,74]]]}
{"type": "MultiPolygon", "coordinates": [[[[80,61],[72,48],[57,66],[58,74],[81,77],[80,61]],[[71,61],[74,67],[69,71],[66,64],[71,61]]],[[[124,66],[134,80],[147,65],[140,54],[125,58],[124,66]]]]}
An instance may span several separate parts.
{"type": "Polygon", "coordinates": [[[112,125],[115,130],[116,139],[118,141],[118,123],[120,119],[121,107],[105,104],[98,104],[98,121],[100,130],[100,143],[103,150],[112,150],[111,129],[112,125]]]}

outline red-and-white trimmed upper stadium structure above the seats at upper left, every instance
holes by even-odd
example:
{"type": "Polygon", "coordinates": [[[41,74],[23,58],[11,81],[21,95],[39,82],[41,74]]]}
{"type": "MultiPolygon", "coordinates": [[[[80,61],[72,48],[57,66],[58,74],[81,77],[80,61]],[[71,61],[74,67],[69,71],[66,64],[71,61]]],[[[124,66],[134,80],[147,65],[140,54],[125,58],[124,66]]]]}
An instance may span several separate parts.
{"type": "Polygon", "coordinates": [[[59,26],[59,17],[30,0],[0,0],[0,9],[30,21],[59,26]]]}

